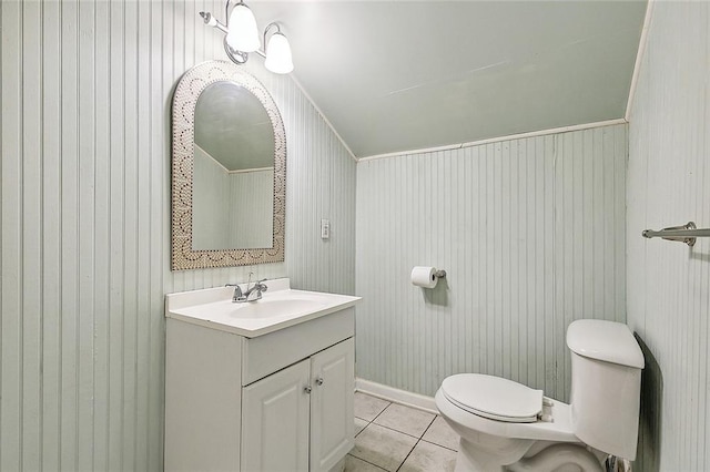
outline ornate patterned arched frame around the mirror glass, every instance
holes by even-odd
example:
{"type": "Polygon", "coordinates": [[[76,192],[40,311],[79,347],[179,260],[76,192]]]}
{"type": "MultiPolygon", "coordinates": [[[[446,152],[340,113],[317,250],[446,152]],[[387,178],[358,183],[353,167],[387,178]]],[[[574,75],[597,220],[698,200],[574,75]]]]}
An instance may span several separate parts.
{"type": "MultiPolygon", "coordinates": [[[[286,216],[286,133],[276,103],[256,78],[226,61],[209,61],[189,70],[173,95],[172,269],[246,266],[284,260],[286,216]],[[264,105],[274,129],[274,215],[272,247],[255,249],[192,248],[195,105],[214,82],[243,86],[264,105]]],[[[235,203],[236,204],[236,203],[235,203]]]]}

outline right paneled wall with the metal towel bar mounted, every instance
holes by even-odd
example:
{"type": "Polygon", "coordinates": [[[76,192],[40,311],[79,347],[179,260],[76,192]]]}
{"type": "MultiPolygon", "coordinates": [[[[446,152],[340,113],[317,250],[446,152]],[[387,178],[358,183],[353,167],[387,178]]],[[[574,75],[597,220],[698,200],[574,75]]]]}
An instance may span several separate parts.
{"type": "Polygon", "coordinates": [[[710,463],[710,3],[653,2],[629,125],[628,322],[648,346],[639,470],[710,463]],[[645,408],[646,406],[646,408],[645,408]]]}

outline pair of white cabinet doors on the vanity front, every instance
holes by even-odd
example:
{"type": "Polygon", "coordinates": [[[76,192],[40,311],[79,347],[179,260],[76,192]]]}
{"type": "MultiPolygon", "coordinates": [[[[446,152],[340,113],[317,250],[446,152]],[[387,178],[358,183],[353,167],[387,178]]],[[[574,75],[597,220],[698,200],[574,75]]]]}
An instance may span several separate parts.
{"type": "Polygon", "coordinates": [[[353,338],[242,389],[242,469],[327,471],[353,447],[353,338]]]}

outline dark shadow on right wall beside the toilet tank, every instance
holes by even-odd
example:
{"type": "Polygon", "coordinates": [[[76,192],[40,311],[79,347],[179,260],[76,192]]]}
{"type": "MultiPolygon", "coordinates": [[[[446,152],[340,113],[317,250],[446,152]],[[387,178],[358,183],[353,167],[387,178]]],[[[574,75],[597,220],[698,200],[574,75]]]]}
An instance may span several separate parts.
{"type": "Polygon", "coordinates": [[[633,469],[645,472],[660,471],[661,459],[661,404],[663,376],[646,342],[635,335],[643,351],[646,367],[641,373],[641,412],[639,419],[639,445],[633,469]]]}

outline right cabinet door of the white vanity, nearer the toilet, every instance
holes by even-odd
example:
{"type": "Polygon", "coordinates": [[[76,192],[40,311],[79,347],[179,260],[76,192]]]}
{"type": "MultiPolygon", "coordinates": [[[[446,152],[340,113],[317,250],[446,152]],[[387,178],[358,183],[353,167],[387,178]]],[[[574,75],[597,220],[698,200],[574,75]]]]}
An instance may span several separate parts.
{"type": "Polygon", "coordinates": [[[354,444],[353,338],[316,353],[311,360],[311,471],[327,471],[354,444]]]}

